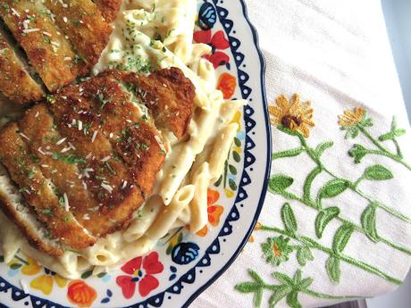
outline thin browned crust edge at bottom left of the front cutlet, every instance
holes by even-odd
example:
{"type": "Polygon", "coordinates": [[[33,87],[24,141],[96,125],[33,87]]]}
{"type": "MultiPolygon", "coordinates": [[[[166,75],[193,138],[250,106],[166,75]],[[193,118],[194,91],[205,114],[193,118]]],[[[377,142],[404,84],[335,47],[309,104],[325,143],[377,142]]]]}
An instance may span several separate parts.
{"type": "MultiPolygon", "coordinates": [[[[1,191],[0,207],[9,220],[13,221],[20,229],[21,233],[26,237],[31,246],[46,254],[55,256],[63,255],[62,247],[59,246],[57,242],[45,240],[41,237],[38,229],[31,228],[27,221],[25,221],[24,217],[21,216],[21,213],[16,211],[13,207],[9,197],[1,191]]],[[[34,214],[34,212],[30,212],[29,214],[34,214]]]]}

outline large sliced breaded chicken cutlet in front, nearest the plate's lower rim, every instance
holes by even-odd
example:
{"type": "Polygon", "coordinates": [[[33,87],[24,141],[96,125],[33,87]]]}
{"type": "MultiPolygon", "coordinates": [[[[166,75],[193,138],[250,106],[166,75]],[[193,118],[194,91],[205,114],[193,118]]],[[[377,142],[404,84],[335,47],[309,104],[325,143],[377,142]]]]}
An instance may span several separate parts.
{"type": "Polygon", "coordinates": [[[105,71],[49,96],[0,131],[4,213],[30,244],[51,255],[126,228],[152,194],[169,150],[157,128],[184,137],[194,96],[194,86],[174,68],[148,77],[105,71]],[[171,112],[175,119],[165,121],[171,112]],[[12,202],[7,191],[21,201],[12,202]]]}

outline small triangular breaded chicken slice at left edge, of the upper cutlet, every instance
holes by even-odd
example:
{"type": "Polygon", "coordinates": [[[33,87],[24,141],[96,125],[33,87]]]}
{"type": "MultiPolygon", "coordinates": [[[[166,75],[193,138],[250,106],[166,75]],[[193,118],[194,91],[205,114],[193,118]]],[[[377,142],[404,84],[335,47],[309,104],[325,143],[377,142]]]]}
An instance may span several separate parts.
{"type": "Polygon", "coordinates": [[[31,78],[20,60],[14,54],[0,31],[0,92],[9,99],[24,104],[43,99],[44,93],[38,83],[31,78]],[[24,87],[21,87],[24,85],[24,87]]]}

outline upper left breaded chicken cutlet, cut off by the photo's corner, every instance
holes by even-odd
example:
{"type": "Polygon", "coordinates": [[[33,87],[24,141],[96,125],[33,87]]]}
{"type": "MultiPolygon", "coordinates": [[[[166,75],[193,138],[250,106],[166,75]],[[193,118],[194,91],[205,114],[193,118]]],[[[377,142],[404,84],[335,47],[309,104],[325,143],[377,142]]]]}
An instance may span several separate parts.
{"type": "MultiPolygon", "coordinates": [[[[114,16],[117,12],[112,13],[114,16]]],[[[1,27],[10,32],[10,38],[27,56],[27,66],[31,66],[33,75],[38,75],[52,93],[88,74],[112,32],[91,0],[4,0],[0,3],[0,19],[1,27]]],[[[0,53],[0,61],[13,64],[13,60],[0,53]]],[[[9,82],[24,85],[22,88],[29,84],[32,90],[34,79],[29,79],[27,74],[25,79],[20,77],[24,65],[12,64],[0,66],[0,73],[8,72],[12,78],[9,82]]],[[[38,93],[21,93],[22,90],[11,94],[9,87],[0,79],[0,90],[12,100],[25,103],[42,98],[38,98],[38,93]]]]}

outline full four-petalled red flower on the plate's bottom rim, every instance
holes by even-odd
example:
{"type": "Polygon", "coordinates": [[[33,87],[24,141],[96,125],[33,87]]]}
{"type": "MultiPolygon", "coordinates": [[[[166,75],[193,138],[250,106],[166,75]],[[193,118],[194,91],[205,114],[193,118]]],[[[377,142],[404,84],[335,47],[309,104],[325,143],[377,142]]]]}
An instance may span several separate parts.
{"type": "Polygon", "coordinates": [[[158,254],[153,252],[147,256],[134,258],[122,266],[122,271],[130,276],[119,276],[116,279],[117,285],[122,287],[122,295],[131,298],[136,292],[140,296],[147,296],[151,291],[159,286],[158,280],[154,277],[164,270],[164,266],[158,261],[158,254]]]}

